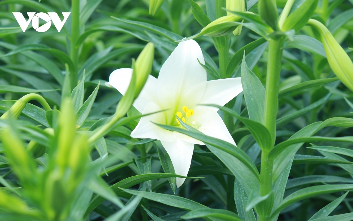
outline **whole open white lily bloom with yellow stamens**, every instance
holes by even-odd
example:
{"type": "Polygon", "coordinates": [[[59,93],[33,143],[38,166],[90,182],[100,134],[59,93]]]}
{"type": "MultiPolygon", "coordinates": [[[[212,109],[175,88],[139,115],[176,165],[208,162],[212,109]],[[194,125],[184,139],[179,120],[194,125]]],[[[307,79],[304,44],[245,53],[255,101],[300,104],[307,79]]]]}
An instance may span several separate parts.
{"type": "MultiPolygon", "coordinates": [[[[149,76],[133,106],[143,114],[161,110],[157,114],[142,117],[131,133],[133,138],[160,140],[172,160],[175,173],[187,176],[190,168],[194,144],[201,141],[178,132],[162,129],[154,123],[181,127],[175,115],[202,133],[235,145],[222,118],[215,107],[223,106],[237,96],[243,88],[240,77],[207,81],[206,71],[198,63],[204,64],[200,46],[194,40],[180,42],[163,64],[158,78],[149,76]]],[[[109,87],[125,94],[132,76],[132,69],[122,68],[112,72],[109,87]]],[[[185,178],[177,178],[180,187],[185,178]]]]}

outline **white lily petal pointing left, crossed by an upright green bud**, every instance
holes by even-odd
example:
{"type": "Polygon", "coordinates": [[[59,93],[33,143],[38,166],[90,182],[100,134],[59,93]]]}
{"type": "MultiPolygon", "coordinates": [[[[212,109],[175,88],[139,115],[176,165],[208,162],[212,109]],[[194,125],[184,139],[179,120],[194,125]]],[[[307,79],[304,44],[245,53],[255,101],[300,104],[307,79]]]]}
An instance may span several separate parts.
{"type": "MultiPolygon", "coordinates": [[[[106,83],[108,87],[114,87],[122,95],[125,95],[127,88],[130,84],[132,76],[131,68],[121,68],[112,72],[109,76],[109,82],[106,83]]],[[[138,95],[137,99],[132,104],[141,113],[145,109],[148,103],[153,102],[158,104],[158,98],[156,93],[157,78],[149,75],[145,86],[138,95]]]]}

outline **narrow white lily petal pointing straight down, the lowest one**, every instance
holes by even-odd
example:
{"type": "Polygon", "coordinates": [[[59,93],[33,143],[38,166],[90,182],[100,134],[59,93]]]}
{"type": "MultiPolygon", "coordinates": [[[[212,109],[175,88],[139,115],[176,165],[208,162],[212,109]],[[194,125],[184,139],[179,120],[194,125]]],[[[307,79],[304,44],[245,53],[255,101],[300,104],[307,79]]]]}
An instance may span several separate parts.
{"type": "MultiPolygon", "coordinates": [[[[194,151],[194,144],[185,142],[179,138],[173,142],[161,141],[161,143],[172,160],[175,174],[187,176],[194,151]]],[[[177,187],[180,187],[184,181],[185,178],[177,177],[177,187]]]]}

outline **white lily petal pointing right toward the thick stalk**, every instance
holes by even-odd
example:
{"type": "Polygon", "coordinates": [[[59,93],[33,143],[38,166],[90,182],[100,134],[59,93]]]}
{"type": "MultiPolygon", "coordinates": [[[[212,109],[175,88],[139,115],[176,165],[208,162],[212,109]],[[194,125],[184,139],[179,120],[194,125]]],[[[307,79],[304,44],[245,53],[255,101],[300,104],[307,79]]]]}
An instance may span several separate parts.
{"type": "Polygon", "coordinates": [[[242,91],[240,77],[207,81],[206,91],[199,104],[224,106],[242,91]]]}

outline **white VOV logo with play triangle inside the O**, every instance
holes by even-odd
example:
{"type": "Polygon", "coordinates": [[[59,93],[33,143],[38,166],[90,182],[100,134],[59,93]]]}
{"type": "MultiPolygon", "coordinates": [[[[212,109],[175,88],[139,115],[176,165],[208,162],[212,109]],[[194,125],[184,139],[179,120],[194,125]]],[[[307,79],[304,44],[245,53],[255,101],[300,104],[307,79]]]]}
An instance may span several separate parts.
{"type": "Polygon", "coordinates": [[[34,28],[34,30],[38,32],[44,32],[49,30],[50,26],[52,26],[52,22],[54,23],[55,28],[60,32],[68,16],[70,16],[70,12],[62,12],[61,14],[64,16],[64,20],[61,21],[58,14],[56,14],[55,12],[48,12],[48,14],[44,12],[39,12],[37,14],[35,12],[27,12],[29,19],[28,21],[26,21],[26,19],[24,18],[21,12],[12,12],[12,13],[15,16],[23,32],[26,31],[31,21],[32,21],[32,27],[34,28]],[[39,27],[40,18],[47,22],[43,24],[41,27],[39,27]]]}

